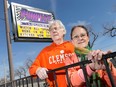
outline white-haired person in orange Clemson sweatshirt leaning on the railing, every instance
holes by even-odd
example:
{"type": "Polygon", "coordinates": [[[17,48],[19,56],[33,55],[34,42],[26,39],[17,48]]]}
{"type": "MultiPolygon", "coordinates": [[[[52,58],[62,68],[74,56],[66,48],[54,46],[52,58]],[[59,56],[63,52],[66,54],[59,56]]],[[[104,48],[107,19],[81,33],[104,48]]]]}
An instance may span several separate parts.
{"type": "MultiPolygon", "coordinates": [[[[60,20],[51,21],[49,31],[53,42],[38,54],[29,72],[40,79],[47,79],[49,87],[55,87],[53,74],[47,71],[64,66],[65,58],[74,54],[74,46],[69,41],[64,41],[66,29],[60,20]]],[[[67,87],[64,70],[56,72],[56,78],[58,87],[67,87]]]]}

